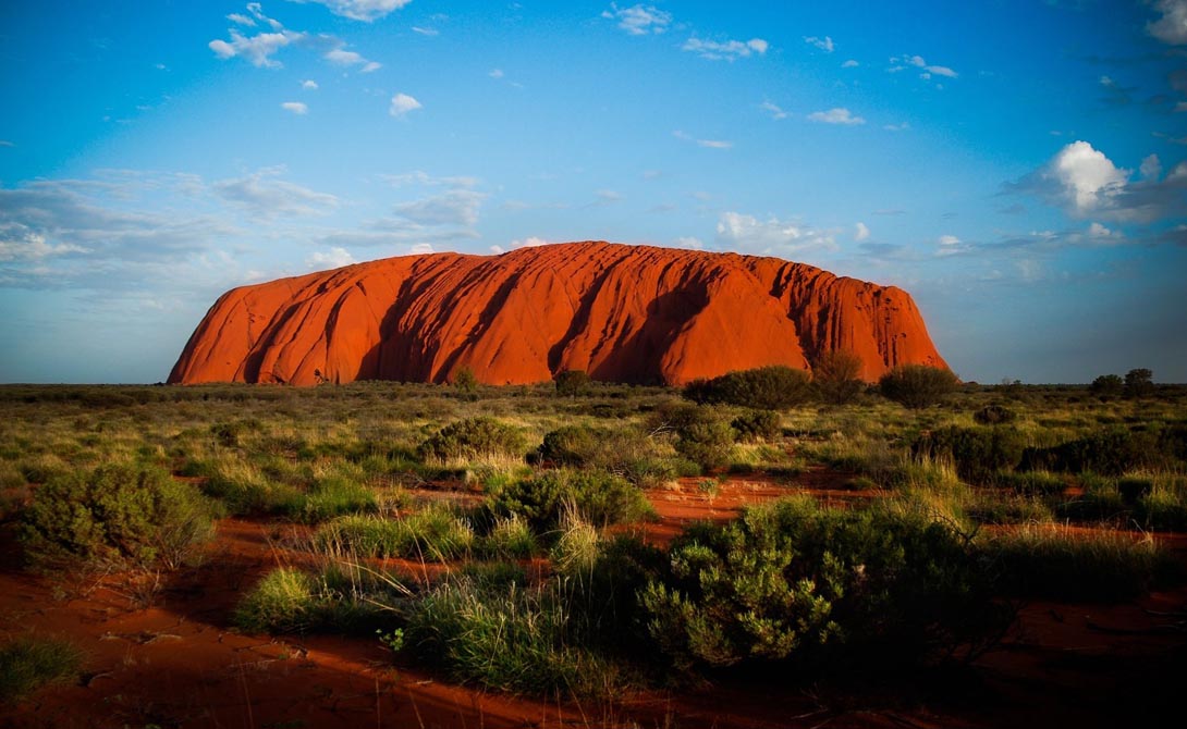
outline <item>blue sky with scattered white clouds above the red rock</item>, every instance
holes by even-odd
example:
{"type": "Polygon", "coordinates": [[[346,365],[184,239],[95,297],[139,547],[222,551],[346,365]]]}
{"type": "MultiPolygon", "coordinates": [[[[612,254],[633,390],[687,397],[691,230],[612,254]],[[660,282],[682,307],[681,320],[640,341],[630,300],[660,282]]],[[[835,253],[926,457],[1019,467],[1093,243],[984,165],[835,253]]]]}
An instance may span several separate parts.
{"type": "Polygon", "coordinates": [[[966,381],[1187,382],[1187,0],[13,0],[0,108],[0,382],[583,239],[900,286],[966,381]]]}

